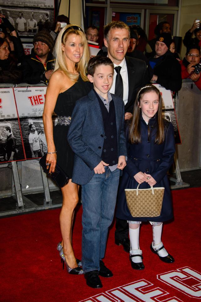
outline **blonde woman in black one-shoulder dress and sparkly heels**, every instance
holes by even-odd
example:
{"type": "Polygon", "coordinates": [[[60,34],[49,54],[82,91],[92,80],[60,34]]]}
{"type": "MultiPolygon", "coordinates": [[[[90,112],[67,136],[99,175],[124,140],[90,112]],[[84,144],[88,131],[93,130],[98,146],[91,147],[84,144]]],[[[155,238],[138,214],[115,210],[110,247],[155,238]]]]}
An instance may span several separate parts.
{"type": "MultiPolygon", "coordinates": [[[[71,178],[74,153],[68,142],[67,133],[77,99],[91,90],[86,76],[89,60],[87,40],[77,25],[67,25],[59,33],[55,45],[56,64],[46,92],[43,122],[48,152],[46,165],[54,172],[56,162],[71,178]],[[58,123],[52,124],[53,111],[58,115],[58,123]]],[[[75,258],[71,231],[75,207],[78,203],[77,184],[69,183],[61,188],[63,204],[60,213],[62,241],[57,249],[70,274],[82,274],[81,262],[75,258]]]]}

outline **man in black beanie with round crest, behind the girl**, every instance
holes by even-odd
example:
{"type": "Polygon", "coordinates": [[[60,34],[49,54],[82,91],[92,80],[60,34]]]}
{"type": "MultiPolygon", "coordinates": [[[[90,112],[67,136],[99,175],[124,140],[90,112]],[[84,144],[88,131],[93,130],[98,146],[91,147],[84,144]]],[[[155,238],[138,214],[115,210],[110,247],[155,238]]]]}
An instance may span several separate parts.
{"type": "Polygon", "coordinates": [[[171,42],[170,33],[163,32],[157,37],[155,52],[149,59],[153,70],[151,80],[166,89],[178,91],[182,87],[181,66],[169,50],[171,42]]]}

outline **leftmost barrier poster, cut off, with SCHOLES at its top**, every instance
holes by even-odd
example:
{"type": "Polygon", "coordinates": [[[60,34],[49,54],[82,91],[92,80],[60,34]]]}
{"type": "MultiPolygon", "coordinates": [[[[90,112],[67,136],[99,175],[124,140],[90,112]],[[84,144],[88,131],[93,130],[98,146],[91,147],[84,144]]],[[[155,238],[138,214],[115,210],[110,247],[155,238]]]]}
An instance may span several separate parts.
{"type": "Polygon", "coordinates": [[[0,163],[25,160],[13,88],[0,88],[0,163]]]}

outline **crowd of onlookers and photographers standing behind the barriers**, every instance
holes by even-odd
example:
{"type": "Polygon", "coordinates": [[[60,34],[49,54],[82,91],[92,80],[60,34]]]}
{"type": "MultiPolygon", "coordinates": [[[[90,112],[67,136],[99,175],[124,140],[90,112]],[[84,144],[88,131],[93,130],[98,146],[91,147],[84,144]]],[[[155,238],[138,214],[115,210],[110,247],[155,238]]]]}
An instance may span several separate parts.
{"type": "MultiPolygon", "coordinates": [[[[0,80],[2,83],[47,84],[54,70],[55,54],[53,49],[59,32],[69,23],[68,17],[59,15],[56,18],[54,29],[50,28],[48,13],[40,15],[40,20],[34,20],[34,13],[25,20],[19,13],[14,21],[9,12],[0,14],[0,80]],[[18,33],[23,31],[34,32],[33,45],[30,55],[25,55],[18,33]],[[42,63],[42,64],[41,64],[42,63]]],[[[192,27],[186,32],[183,44],[187,53],[183,61],[177,49],[177,43],[172,39],[171,26],[167,21],[159,23],[155,28],[155,38],[148,41],[142,28],[130,26],[130,43],[127,57],[143,60],[147,66],[149,81],[156,81],[161,86],[172,91],[181,89],[182,79],[188,78],[200,89],[200,72],[195,72],[195,66],[200,63],[200,56],[189,53],[191,49],[201,46],[201,25],[194,20],[192,27]],[[194,34],[194,37],[192,37],[194,34]],[[190,56],[191,55],[191,56],[190,56]],[[193,60],[191,60],[193,56],[193,60]],[[177,60],[176,60],[177,59],[177,60]],[[186,60],[188,63],[186,63],[186,60]],[[187,68],[187,64],[191,64],[187,68]],[[195,64],[194,64],[195,63],[195,64]],[[181,70],[182,68],[182,70],[181,70]]],[[[90,25],[85,30],[88,41],[98,43],[99,31],[96,26],[90,25]]],[[[101,45],[100,45],[101,47],[101,45]]],[[[107,55],[104,45],[98,55],[107,55]]],[[[197,69],[196,69],[197,70],[197,69]]],[[[198,69],[199,70],[199,69],[198,69]]],[[[123,69],[120,73],[123,73],[123,69]]]]}

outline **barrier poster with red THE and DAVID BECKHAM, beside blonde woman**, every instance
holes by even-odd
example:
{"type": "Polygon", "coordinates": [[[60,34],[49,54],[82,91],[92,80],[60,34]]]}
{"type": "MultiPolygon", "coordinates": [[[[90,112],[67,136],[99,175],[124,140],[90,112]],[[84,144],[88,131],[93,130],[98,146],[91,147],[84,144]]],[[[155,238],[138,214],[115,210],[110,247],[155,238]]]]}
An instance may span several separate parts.
{"type": "Polygon", "coordinates": [[[26,159],[47,152],[43,126],[43,108],[47,87],[14,88],[26,159]]]}

